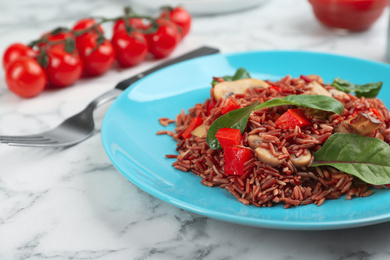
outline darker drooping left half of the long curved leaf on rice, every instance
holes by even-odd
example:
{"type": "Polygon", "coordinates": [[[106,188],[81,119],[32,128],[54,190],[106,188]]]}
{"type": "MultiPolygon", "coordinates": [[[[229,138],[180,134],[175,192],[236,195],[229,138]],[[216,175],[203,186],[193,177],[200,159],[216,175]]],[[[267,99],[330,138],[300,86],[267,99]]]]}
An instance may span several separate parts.
{"type": "Polygon", "coordinates": [[[230,111],[229,113],[217,118],[207,132],[206,142],[209,147],[213,150],[221,148],[218,139],[215,137],[215,134],[221,128],[240,129],[241,133],[244,132],[249,115],[258,103],[259,102],[257,101],[248,107],[230,111]]]}

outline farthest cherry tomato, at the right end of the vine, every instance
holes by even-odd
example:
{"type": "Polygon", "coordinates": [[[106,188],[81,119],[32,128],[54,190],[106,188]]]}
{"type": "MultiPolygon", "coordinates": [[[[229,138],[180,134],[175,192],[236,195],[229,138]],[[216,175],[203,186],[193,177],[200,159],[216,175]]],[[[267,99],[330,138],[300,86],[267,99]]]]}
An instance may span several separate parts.
{"type": "Polygon", "coordinates": [[[191,28],[192,17],[183,7],[164,8],[160,15],[161,18],[171,20],[179,26],[179,32],[184,38],[191,28]]]}

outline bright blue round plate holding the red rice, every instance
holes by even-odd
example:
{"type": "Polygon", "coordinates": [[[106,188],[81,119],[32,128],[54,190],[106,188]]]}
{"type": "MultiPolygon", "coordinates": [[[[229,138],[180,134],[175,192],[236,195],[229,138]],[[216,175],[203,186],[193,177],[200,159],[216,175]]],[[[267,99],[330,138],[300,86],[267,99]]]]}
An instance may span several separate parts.
{"type": "Polygon", "coordinates": [[[354,83],[383,81],[380,98],[389,105],[390,66],[311,52],[258,51],[215,54],[182,62],[138,81],[116,99],[103,121],[104,149],[114,166],[132,183],[177,207],[211,218],[275,229],[325,230],[371,225],[390,219],[390,191],[375,190],[367,198],[328,200],[284,209],[245,206],[221,188],[209,188],[200,177],[175,170],[166,154],[176,153],[169,136],[157,136],[158,119],[174,119],[182,109],[209,97],[213,76],[244,67],[254,78],[278,80],[286,75],[318,74],[326,82],[336,77],[354,83]]]}

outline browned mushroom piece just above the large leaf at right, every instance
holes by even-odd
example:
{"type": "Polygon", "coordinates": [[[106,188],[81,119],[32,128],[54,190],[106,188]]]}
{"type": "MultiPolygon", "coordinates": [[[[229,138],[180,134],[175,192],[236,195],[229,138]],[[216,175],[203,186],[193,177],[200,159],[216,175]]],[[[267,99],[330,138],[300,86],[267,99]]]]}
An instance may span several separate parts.
{"type": "Polygon", "coordinates": [[[338,133],[373,136],[382,122],[365,114],[359,113],[354,118],[342,121],[335,129],[338,133]]]}

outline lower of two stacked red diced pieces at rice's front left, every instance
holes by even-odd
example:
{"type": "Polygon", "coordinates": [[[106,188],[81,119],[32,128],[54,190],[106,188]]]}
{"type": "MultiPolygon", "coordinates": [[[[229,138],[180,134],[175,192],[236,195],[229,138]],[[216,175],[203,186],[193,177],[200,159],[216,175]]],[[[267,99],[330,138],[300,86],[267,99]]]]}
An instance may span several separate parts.
{"type": "Polygon", "coordinates": [[[229,146],[224,152],[225,174],[243,175],[245,163],[253,157],[252,150],[239,146],[229,146]]]}

